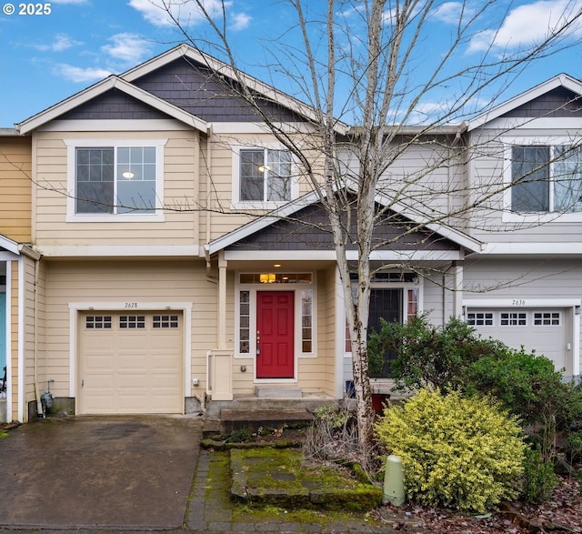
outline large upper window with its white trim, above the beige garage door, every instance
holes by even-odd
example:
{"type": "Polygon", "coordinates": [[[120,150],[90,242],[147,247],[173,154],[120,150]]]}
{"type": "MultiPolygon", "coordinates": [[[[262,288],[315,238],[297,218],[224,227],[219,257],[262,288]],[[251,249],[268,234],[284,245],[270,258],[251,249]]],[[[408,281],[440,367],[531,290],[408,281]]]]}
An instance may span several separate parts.
{"type": "Polygon", "coordinates": [[[67,220],[163,217],[166,139],[68,139],[67,220]]]}

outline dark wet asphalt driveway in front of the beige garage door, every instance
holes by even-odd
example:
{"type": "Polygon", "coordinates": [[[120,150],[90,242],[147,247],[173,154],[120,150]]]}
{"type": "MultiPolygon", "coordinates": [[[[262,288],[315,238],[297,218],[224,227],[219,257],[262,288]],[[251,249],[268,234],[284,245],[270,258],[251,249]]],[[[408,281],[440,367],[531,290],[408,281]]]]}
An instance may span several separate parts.
{"type": "Polygon", "coordinates": [[[47,418],[0,439],[0,527],[176,529],[202,421],[47,418]]]}

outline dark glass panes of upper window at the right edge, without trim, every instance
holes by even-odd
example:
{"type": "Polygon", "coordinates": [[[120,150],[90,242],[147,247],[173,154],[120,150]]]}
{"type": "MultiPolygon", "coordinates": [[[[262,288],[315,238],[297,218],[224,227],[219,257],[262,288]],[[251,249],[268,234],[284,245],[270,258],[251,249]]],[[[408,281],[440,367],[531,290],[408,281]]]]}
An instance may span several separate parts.
{"type": "Polygon", "coordinates": [[[571,145],[512,146],[511,210],[582,211],[582,149],[571,145]]]}

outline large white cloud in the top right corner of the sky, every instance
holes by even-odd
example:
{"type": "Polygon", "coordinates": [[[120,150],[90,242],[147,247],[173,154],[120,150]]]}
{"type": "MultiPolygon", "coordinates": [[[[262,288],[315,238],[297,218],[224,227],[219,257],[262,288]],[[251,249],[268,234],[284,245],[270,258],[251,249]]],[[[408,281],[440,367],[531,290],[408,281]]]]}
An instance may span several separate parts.
{"type": "MultiPolygon", "coordinates": [[[[498,30],[484,30],[473,37],[468,51],[515,49],[534,45],[547,38],[566,21],[572,20],[580,9],[580,0],[539,0],[532,4],[519,5],[509,12],[498,30]]],[[[579,24],[571,28],[571,31],[579,30],[579,24]]]]}

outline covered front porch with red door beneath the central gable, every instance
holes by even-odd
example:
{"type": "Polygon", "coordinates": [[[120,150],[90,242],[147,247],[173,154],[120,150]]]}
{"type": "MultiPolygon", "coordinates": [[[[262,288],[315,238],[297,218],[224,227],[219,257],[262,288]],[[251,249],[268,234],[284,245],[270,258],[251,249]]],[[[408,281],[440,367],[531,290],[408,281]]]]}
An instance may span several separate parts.
{"type": "MultiPolygon", "coordinates": [[[[249,412],[268,402],[282,409],[278,399],[296,408],[348,397],[351,342],[325,220],[321,207],[304,206],[292,220],[261,218],[206,246],[208,277],[217,288],[217,347],[206,355],[210,414],[249,412]]],[[[386,245],[370,257],[375,319],[405,321],[427,312],[438,324],[460,316],[463,259],[467,246],[477,244],[434,228],[395,241],[402,225],[406,220],[394,216],[376,230],[386,245]]],[[[356,266],[356,246],[347,256],[356,266]]],[[[390,390],[382,378],[373,386],[390,390]]]]}

